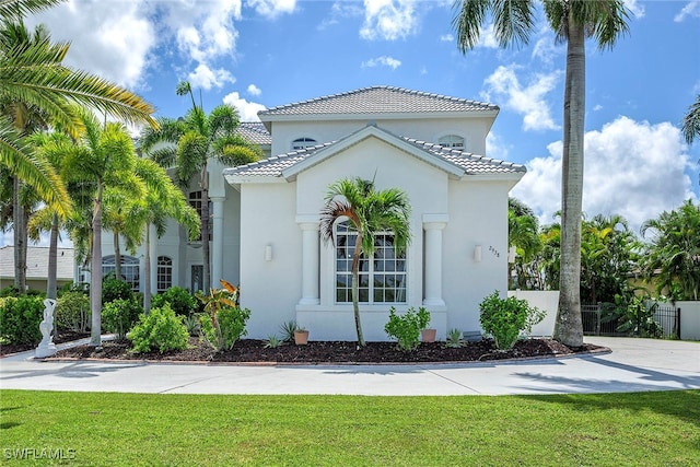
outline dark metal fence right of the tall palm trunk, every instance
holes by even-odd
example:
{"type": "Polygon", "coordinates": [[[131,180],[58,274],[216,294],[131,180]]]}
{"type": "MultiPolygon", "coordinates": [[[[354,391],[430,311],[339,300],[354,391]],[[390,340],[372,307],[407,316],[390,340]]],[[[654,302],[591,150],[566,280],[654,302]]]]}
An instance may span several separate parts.
{"type": "MultiPolygon", "coordinates": [[[[655,306],[652,319],[661,327],[664,338],[680,338],[680,308],[661,306],[657,303],[649,303],[655,306]]],[[[632,331],[620,331],[625,318],[615,311],[611,304],[597,303],[594,305],[581,305],[581,318],[583,320],[583,334],[585,336],[634,336],[632,331]]],[[[639,329],[640,323],[635,324],[639,329]]]]}

